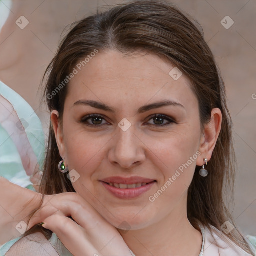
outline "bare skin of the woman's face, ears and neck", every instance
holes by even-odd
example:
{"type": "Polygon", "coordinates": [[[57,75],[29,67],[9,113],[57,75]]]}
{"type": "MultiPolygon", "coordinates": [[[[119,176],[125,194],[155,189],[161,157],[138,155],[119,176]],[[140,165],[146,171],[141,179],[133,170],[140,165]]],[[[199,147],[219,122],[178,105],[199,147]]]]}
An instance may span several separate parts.
{"type": "MultiPolygon", "coordinates": [[[[198,100],[184,74],[176,81],[169,76],[173,67],[156,55],[100,52],[70,81],[63,126],[59,125],[58,112],[51,113],[60,155],[69,170],[80,175],[73,183],[74,189],[118,229],[136,256],[198,255],[201,248],[201,234],[187,219],[187,189],[195,166],[203,165],[203,158],[210,164],[221,127],[221,111],[212,110],[211,121],[201,132],[198,100]],[[142,105],[163,99],[183,107],[165,106],[136,113],[142,105]],[[115,113],[82,104],[74,106],[78,100],[103,102],[115,113]],[[80,122],[88,114],[104,118],[99,122],[102,125],[89,127],[80,122]],[[153,114],[164,114],[175,122],[160,126],[152,119],[153,114]],[[118,127],[123,118],[131,124],[125,132],[118,127]],[[198,151],[200,156],[150,202],[149,196],[198,151]],[[110,176],[141,176],[157,182],[139,197],[119,199],[99,182],[110,176]],[[121,229],[123,221],[128,231],[121,229]]],[[[99,125],[92,119],[87,123],[99,125]]]]}

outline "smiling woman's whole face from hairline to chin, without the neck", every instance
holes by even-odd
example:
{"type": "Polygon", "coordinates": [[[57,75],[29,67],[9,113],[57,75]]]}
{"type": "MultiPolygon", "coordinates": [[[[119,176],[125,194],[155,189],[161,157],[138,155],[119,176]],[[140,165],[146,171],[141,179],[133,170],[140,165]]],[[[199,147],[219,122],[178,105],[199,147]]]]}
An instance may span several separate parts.
{"type": "Polygon", "coordinates": [[[186,76],[178,78],[175,69],[171,76],[172,69],[156,55],[109,50],[77,69],[68,84],[60,155],[75,191],[115,227],[139,229],[186,214],[187,189],[205,155],[199,151],[198,100],[186,76]],[[167,101],[172,103],[156,104],[167,101]],[[130,185],[122,190],[102,180],[130,185]]]}

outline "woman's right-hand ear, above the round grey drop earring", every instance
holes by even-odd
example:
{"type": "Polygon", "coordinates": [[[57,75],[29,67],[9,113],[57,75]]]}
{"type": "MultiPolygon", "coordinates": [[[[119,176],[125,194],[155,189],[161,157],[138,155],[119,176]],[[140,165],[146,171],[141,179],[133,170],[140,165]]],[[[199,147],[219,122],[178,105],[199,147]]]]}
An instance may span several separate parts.
{"type": "Polygon", "coordinates": [[[201,152],[201,156],[197,158],[196,165],[203,165],[203,158],[206,158],[207,161],[210,160],[221,129],[221,122],[221,110],[219,108],[213,108],[211,110],[211,120],[204,126],[204,131],[201,135],[198,149],[201,152]]]}

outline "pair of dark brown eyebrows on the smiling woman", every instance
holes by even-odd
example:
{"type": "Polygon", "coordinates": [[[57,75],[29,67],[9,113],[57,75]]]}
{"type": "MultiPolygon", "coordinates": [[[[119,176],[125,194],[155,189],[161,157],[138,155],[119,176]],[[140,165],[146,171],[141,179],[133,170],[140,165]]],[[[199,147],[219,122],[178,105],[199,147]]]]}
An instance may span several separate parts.
{"type": "MultiPolygon", "coordinates": [[[[94,107],[94,108],[98,108],[98,109],[101,109],[101,110],[104,110],[104,111],[115,113],[115,110],[112,107],[107,106],[106,104],[101,103],[99,101],[95,101],[95,100],[82,100],[81,99],[81,100],[76,101],[73,104],[73,106],[75,106],[75,105],[89,105],[89,106],[94,107]]],[[[178,103],[176,101],[165,99],[163,101],[159,101],[159,102],[155,102],[155,103],[152,103],[152,104],[141,106],[138,109],[137,113],[144,113],[144,112],[149,111],[151,109],[159,108],[159,107],[163,107],[163,106],[179,106],[179,107],[184,108],[183,105],[181,105],[180,103],[178,103]]]]}

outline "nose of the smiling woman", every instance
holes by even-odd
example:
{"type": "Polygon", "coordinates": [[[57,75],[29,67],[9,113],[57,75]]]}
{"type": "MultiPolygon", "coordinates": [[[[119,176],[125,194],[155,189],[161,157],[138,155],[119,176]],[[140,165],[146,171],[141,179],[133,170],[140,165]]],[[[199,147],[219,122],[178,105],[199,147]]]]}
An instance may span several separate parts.
{"type": "Polygon", "coordinates": [[[109,161],[124,169],[131,169],[144,162],[145,144],[139,138],[135,127],[131,125],[126,131],[117,127],[116,130],[108,154],[109,161]]]}

